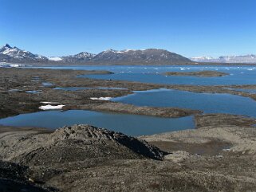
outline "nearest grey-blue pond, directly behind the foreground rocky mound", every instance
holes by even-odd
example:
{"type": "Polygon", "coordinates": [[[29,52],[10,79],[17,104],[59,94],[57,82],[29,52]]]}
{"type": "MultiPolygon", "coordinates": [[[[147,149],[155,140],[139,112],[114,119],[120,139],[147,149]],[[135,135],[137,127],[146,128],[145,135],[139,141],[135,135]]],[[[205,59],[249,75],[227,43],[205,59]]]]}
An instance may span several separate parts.
{"type": "Polygon", "coordinates": [[[84,110],[34,112],[0,120],[0,124],[14,127],[48,127],[55,129],[78,123],[120,131],[127,135],[152,135],[167,131],[194,128],[192,116],[161,118],[84,110]]]}

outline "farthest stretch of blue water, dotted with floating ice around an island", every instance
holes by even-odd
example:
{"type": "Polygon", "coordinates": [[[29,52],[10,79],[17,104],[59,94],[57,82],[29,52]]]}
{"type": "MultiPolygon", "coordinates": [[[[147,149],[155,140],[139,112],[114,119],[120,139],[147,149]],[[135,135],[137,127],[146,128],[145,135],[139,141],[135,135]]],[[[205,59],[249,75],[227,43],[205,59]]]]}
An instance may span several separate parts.
{"type": "Polygon", "coordinates": [[[147,65],[147,66],[61,66],[45,67],[45,69],[73,69],[73,70],[108,70],[113,74],[86,75],[89,77],[103,80],[130,80],[154,84],[191,84],[191,85],[227,85],[227,84],[256,84],[255,66],[183,66],[183,65],[147,65]],[[195,77],[195,76],[164,76],[163,72],[190,72],[216,70],[226,72],[228,76],[218,77],[195,77]]]}

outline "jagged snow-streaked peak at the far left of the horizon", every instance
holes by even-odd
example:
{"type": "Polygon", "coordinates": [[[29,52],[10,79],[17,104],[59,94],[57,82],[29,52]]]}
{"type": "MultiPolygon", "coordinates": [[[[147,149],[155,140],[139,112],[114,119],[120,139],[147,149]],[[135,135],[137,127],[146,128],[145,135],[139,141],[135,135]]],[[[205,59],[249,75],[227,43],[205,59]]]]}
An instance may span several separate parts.
{"type": "Polygon", "coordinates": [[[0,48],[0,61],[2,62],[42,62],[48,61],[47,57],[30,53],[18,47],[11,47],[6,44],[0,48]]]}

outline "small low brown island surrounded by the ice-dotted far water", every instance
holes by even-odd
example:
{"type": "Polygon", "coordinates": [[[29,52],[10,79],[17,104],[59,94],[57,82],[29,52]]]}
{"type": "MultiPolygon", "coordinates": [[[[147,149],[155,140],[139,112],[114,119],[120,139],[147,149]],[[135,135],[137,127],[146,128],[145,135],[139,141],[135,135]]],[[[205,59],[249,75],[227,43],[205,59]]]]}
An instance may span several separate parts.
{"type": "Polygon", "coordinates": [[[215,76],[227,76],[226,72],[218,71],[199,71],[199,72],[164,72],[165,76],[198,76],[198,77],[215,77],[215,76]]]}

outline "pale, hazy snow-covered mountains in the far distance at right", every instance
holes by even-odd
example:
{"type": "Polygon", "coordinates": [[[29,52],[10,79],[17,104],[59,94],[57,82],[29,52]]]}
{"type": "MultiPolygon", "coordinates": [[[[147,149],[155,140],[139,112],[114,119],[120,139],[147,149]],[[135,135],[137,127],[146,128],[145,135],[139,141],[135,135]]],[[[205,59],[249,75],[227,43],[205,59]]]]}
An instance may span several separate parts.
{"type": "Polygon", "coordinates": [[[256,63],[256,55],[243,56],[221,56],[221,57],[191,57],[195,62],[213,62],[213,63],[256,63]]]}

